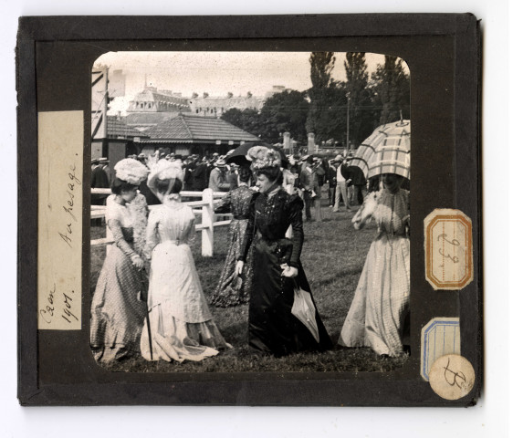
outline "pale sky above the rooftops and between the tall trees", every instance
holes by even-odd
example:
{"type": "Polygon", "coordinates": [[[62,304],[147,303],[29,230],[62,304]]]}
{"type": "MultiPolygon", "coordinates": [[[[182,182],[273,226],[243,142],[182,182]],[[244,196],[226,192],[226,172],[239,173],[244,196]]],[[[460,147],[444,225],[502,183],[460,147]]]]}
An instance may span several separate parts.
{"type": "MultiPolygon", "coordinates": [[[[126,75],[125,97],[110,104],[110,112],[124,112],[128,102],[148,86],[200,96],[264,96],[274,85],[299,91],[309,89],[310,52],[109,52],[95,65],[122,69],[126,75]]],[[[332,77],[345,80],[345,53],[335,53],[332,77]]],[[[384,56],[366,54],[369,74],[384,62],[384,56]]],[[[409,71],[403,63],[405,71],[409,71]]]]}

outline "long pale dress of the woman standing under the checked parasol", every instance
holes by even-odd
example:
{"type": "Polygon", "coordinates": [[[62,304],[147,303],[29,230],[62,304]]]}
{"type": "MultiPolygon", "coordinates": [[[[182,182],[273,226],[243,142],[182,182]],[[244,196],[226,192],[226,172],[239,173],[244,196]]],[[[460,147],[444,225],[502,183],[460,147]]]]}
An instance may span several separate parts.
{"type": "Polygon", "coordinates": [[[379,193],[373,218],[379,235],[372,242],[340,332],[345,347],[371,347],[378,354],[403,352],[404,320],[410,303],[410,239],[403,218],[410,193],[379,193]]]}

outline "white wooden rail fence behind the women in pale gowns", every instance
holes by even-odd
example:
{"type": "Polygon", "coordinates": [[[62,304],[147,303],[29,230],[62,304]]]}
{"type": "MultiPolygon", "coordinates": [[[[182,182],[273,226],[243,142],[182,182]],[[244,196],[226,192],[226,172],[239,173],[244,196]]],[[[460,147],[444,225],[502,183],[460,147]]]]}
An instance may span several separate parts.
{"type": "MultiPolygon", "coordinates": [[[[110,189],[91,189],[91,194],[110,194],[110,189]]],[[[201,215],[202,223],[196,224],[196,231],[202,233],[202,255],[204,257],[211,257],[214,255],[214,228],[217,226],[228,225],[230,220],[215,222],[217,216],[230,217],[231,214],[215,214],[214,203],[215,199],[225,196],[225,192],[213,192],[212,189],[205,189],[203,192],[181,192],[183,197],[187,198],[201,198],[201,201],[191,201],[185,203],[193,208],[196,215],[201,215]],[[201,207],[201,208],[200,208],[201,207]]],[[[91,205],[91,219],[100,219],[105,217],[105,205],[91,205]]],[[[150,210],[153,205],[149,205],[150,210]]],[[[91,246],[104,245],[110,243],[107,238],[91,240],[91,246]]]]}

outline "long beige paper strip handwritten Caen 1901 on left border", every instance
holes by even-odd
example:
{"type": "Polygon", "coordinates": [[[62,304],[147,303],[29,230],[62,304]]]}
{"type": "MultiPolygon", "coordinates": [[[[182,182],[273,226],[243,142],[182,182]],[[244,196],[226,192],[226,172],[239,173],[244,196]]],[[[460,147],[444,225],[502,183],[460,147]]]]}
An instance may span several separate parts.
{"type": "Polygon", "coordinates": [[[81,328],[82,111],[38,114],[37,328],[81,328]]]}

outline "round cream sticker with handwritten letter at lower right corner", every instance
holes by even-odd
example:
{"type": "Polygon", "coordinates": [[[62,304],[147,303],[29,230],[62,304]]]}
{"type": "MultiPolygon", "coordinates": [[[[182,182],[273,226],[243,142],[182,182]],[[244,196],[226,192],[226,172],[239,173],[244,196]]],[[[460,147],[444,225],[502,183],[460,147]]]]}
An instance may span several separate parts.
{"type": "Polygon", "coordinates": [[[429,371],[431,388],[445,400],[465,397],[474,388],[475,380],[472,364],[457,354],[438,358],[429,371]]]}

